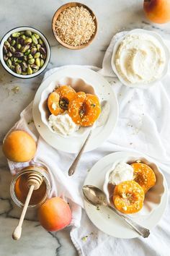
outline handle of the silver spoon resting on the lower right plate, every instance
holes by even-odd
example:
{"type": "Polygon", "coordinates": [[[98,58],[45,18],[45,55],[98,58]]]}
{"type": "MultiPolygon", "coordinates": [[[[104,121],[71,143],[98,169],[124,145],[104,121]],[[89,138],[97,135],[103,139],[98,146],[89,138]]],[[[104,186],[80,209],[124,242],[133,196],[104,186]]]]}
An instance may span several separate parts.
{"type": "Polygon", "coordinates": [[[122,214],[118,213],[115,208],[112,208],[112,206],[108,205],[109,209],[113,210],[120,218],[122,218],[126,223],[129,224],[135,231],[140,234],[140,236],[143,236],[144,238],[148,237],[150,234],[150,231],[143,226],[140,226],[138,223],[135,223],[131,218],[128,218],[127,216],[123,216],[122,214]]]}

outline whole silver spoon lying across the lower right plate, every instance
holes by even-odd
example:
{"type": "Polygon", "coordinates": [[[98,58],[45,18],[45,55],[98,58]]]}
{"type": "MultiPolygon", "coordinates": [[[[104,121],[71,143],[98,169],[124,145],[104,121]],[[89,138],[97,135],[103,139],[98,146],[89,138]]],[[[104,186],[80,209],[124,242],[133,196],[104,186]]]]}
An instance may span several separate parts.
{"type": "Polygon", "coordinates": [[[84,193],[84,197],[86,197],[86,200],[90,202],[92,205],[107,206],[109,209],[113,210],[114,213],[120,216],[120,218],[122,218],[126,223],[128,223],[129,226],[135,229],[135,231],[138,232],[140,236],[143,236],[144,238],[149,236],[150,231],[148,229],[144,228],[143,226],[140,226],[138,223],[135,223],[135,221],[131,220],[131,218],[128,218],[127,216],[123,216],[115,208],[109,205],[107,203],[106,195],[98,187],[95,187],[93,185],[86,185],[83,187],[83,193],[84,193]]]}

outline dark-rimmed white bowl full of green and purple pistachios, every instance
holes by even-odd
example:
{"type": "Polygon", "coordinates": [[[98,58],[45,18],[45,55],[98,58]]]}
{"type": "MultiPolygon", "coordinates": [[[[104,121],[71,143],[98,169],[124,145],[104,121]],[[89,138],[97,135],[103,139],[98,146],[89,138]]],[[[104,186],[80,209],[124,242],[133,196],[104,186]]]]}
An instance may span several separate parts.
{"type": "Polygon", "coordinates": [[[16,27],[1,40],[1,64],[19,78],[32,78],[43,72],[50,60],[50,44],[33,27],[16,27]]]}

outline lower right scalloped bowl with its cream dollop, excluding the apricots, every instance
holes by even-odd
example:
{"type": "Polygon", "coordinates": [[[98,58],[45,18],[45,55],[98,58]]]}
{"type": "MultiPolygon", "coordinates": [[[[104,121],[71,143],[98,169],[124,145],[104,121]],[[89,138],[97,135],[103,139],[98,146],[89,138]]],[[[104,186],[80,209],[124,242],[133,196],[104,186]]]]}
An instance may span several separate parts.
{"type": "Polygon", "coordinates": [[[143,208],[138,213],[128,214],[134,218],[148,216],[161,204],[165,192],[164,175],[161,173],[158,166],[156,166],[156,163],[153,163],[150,159],[148,160],[148,158],[143,156],[127,156],[117,159],[117,161],[112,163],[112,166],[108,166],[103,190],[107,196],[107,202],[114,207],[112,195],[115,186],[122,182],[132,181],[134,179],[134,171],[131,166],[132,163],[145,163],[147,166],[151,167],[156,175],[156,184],[146,193],[143,208]]]}

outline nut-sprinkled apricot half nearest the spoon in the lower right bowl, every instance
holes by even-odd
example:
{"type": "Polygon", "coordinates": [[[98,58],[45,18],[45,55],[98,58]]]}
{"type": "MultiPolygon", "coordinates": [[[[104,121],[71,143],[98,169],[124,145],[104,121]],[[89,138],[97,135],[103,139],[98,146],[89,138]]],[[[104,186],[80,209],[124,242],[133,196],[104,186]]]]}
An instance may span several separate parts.
{"type": "Polygon", "coordinates": [[[121,213],[137,213],[143,208],[145,193],[137,182],[122,182],[115,187],[113,202],[121,213]]]}

